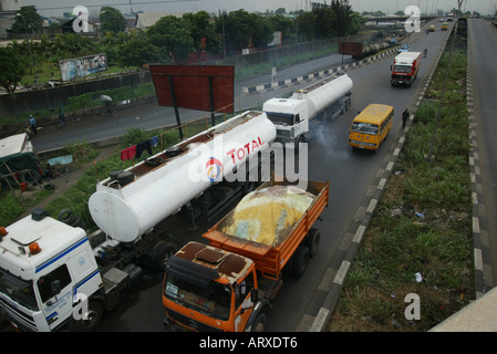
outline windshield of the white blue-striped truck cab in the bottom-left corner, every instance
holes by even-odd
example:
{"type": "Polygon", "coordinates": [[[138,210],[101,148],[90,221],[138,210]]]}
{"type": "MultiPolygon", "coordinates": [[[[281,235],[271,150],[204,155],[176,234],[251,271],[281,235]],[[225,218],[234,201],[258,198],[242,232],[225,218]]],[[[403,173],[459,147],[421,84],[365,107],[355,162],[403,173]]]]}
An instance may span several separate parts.
{"type": "Polygon", "coordinates": [[[0,292],[30,310],[38,310],[32,282],[17,278],[3,269],[0,269],[0,292]]]}

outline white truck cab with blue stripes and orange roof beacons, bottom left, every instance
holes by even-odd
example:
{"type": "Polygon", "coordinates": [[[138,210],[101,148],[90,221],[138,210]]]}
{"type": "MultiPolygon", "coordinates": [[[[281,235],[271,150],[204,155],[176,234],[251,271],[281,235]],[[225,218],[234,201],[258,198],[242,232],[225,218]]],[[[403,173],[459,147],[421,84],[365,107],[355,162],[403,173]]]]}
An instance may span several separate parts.
{"type": "Polygon", "coordinates": [[[89,238],[81,228],[35,209],[0,237],[0,309],[22,331],[74,324],[80,295],[102,288],[89,238]]]}

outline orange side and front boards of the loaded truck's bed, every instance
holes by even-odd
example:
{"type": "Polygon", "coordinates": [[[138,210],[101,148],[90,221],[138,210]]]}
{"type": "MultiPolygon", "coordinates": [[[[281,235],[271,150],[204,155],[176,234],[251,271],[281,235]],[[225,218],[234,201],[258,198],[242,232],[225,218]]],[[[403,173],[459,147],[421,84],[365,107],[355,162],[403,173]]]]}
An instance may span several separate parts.
{"type": "MultiPolygon", "coordinates": [[[[287,181],[267,181],[258,189],[273,185],[286,186],[291,184],[287,181]]],[[[225,219],[227,219],[234,211],[228,214],[203,236],[209,240],[210,246],[250,258],[256,263],[256,269],[259,270],[263,277],[279,279],[284,264],[294,253],[302,240],[308,236],[309,230],[328,206],[330,183],[309,180],[307,191],[315,196],[314,200],[300,220],[296,222],[290,235],[281,243],[275,247],[218,231],[225,219]]]]}

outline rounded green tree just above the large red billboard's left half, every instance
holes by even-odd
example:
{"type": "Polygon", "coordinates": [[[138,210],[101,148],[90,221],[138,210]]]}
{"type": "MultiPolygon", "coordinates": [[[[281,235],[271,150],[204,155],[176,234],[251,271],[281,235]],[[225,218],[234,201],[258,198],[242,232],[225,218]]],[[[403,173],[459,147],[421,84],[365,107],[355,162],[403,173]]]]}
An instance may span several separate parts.
{"type": "Polygon", "coordinates": [[[185,63],[195,50],[189,25],[174,15],[158,20],[148,29],[147,37],[161,50],[161,59],[164,61],[185,63]]]}

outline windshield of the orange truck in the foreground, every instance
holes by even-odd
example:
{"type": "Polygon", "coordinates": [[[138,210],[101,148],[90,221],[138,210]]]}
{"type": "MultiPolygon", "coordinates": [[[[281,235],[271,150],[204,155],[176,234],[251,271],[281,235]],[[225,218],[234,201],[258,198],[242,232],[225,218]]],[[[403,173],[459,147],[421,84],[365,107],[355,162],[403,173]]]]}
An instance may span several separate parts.
{"type": "Polygon", "coordinates": [[[224,321],[229,317],[231,289],[215,281],[204,288],[167,274],[165,295],[210,317],[224,321]]]}

